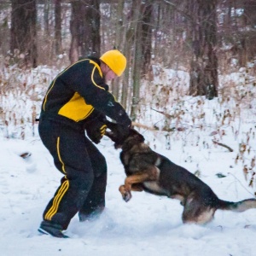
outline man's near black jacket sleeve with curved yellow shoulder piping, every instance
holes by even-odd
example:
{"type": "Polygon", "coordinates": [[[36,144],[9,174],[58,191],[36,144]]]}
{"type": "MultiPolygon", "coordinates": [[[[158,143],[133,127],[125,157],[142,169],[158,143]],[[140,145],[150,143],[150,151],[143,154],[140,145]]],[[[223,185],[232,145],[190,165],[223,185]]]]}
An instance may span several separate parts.
{"type": "MultiPolygon", "coordinates": [[[[84,72],[82,73],[84,74],[84,72]]],[[[80,78],[73,86],[80,96],[84,97],[86,104],[90,104],[97,110],[105,113],[120,125],[131,125],[131,119],[125,112],[125,108],[119,102],[116,102],[114,96],[106,90],[108,85],[104,84],[98,68],[93,63],[86,69],[84,78],[80,78]],[[84,80],[85,83],[83,83],[84,80]]]]}

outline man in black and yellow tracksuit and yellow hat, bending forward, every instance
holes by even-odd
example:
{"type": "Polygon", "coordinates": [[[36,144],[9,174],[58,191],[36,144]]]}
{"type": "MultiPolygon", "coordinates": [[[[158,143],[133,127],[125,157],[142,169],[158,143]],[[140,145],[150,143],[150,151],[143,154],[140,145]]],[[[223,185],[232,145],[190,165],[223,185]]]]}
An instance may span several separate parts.
{"type": "Polygon", "coordinates": [[[65,238],[62,230],[67,230],[77,212],[84,221],[103,211],[107,164],[91,141],[100,143],[106,115],[124,128],[131,125],[125,109],[105,84],[105,80],[120,76],[125,67],[125,56],[113,49],[100,59],[89,57],[74,63],[49,85],[38,131],[64,177],[44,210],[41,233],[65,238]]]}

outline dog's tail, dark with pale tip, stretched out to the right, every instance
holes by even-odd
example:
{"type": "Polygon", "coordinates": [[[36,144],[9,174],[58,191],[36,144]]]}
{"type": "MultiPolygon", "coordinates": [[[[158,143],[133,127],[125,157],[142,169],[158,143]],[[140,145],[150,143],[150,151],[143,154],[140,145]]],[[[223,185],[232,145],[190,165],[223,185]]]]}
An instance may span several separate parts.
{"type": "Polygon", "coordinates": [[[244,212],[249,209],[256,208],[256,199],[246,199],[243,201],[223,201],[219,200],[218,209],[220,210],[228,210],[232,212],[244,212]]]}

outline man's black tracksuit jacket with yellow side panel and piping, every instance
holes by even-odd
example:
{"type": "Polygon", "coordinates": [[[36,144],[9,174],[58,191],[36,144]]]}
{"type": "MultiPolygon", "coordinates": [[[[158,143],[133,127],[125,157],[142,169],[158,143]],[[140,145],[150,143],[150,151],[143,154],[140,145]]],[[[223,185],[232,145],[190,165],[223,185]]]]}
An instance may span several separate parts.
{"type": "Polygon", "coordinates": [[[44,97],[41,117],[83,127],[87,119],[96,115],[96,110],[120,125],[131,122],[125,109],[108,92],[100,61],[90,58],[67,67],[53,80],[44,97]]]}

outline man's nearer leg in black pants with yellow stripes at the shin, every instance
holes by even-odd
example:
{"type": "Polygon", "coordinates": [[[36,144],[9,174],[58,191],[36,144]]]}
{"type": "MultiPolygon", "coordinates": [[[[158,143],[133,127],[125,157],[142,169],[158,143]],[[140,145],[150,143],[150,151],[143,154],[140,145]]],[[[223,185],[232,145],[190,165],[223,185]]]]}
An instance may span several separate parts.
{"type": "Polygon", "coordinates": [[[39,133],[54,158],[55,166],[65,175],[44,210],[44,221],[40,229],[49,231],[52,236],[61,237],[58,231],[66,230],[70,220],[83,206],[93,184],[94,173],[83,132],[45,121],[39,133]],[[49,227],[57,227],[58,231],[54,233],[49,227]]]}

